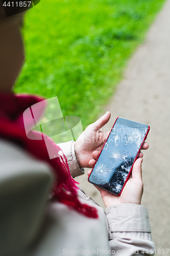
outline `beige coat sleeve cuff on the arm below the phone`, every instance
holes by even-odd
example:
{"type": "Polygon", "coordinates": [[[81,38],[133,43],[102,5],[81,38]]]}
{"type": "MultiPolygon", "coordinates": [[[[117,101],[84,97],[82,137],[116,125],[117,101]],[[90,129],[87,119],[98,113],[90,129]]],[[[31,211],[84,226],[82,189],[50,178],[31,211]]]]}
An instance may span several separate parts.
{"type": "Polygon", "coordinates": [[[147,208],[138,204],[117,204],[106,208],[109,247],[112,254],[154,255],[147,208]]]}

